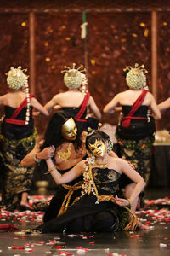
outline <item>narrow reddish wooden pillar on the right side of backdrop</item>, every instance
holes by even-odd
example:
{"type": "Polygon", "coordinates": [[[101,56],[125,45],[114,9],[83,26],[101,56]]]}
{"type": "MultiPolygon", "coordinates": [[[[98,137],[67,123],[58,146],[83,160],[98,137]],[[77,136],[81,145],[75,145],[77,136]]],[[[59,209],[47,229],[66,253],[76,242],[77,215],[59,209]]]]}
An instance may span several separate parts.
{"type": "Polygon", "coordinates": [[[157,101],[157,13],[151,12],[151,81],[152,93],[157,101]]]}

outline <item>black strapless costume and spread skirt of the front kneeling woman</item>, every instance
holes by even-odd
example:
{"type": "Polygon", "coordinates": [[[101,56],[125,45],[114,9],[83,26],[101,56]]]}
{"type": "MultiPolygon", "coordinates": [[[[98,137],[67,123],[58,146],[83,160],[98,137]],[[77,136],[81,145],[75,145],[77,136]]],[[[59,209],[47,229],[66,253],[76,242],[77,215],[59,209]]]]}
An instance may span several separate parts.
{"type": "MultiPolygon", "coordinates": [[[[112,169],[92,169],[94,183],[100,195],[118,195],[121,174],[112,169]]],[[[122,195],[121,195],[122,196],[122,195]]],[[[50,232],[113,232],[123,230],[129,222],[129,213],[111,201],[98,203],[97,197],[91,192],[83,195],[58,218],[38,226],[42,233],[50,232]]]]}

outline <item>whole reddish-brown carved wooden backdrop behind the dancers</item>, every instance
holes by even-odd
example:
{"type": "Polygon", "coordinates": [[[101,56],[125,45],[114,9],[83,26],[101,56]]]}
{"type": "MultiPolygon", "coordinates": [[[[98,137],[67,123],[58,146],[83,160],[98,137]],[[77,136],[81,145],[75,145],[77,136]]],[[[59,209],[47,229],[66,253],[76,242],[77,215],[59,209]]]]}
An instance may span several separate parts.
{"type": "MultiPolygon", "coordinates": [[[[127,89],[122,76],[122,69],[127,65],[144,63],[149,72],[147,82],[151,91],[151,12],[155,8],[158,31],[157,101],[162,102],[170,96],[170,9],[166,9],[163,2],[156,1],[156,7],[150,7],[138,5],[144,1],[129,6],[125,1],[118,5],[102,1],[102,6],[95,5],[101,1],[87,1],[87,6],[78,5],[78,2],[67,6],[66,1],[63,4],[62,1],[54,1],[56,3],[53,2],[50,8],[48,3],[52,1],[14,5],[19,2],[13,1],[13,5],[8,6],[6,1],[0,8],[1,95],[8,89],[5,73],[11,66],[28,68],[31,75],[30,13],[35,18],[35,83],[34,88],[32,84],[30,87],[42,105],[54,94],[65,90],[63,74],[60,73],[63,67],[71,66],[73,62],[77,66],[84,64],[85,58],[89,90],[101,111],[116,93],[127,89]],[[84,9],[87,10],[88,21],[86,42],[81,39],[80,28],[84,9]]],[[[163,114],[161,129],[170,129],[168,116],[169,111],[163,114]]],[[[116,125],[117,114],[105,114],[102,121],[116,125]]],[[[36,118],[39,133],[43,133],[47,123],[46,118],[36,118]]]]}

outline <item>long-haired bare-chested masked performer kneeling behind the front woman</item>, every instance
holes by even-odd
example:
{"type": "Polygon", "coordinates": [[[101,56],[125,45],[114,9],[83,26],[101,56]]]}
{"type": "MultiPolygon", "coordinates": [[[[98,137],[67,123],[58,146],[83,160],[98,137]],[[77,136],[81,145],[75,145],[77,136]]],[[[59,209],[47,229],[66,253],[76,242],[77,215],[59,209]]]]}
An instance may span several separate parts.
{"type": "MultiPolygon", "coordinates": [[[[59,172],[64,174],[85,157],[85,136],[85,133],[77,129],[73,118],[67,117],[63,111],[54,113],[49,121],[44,140],[37,143],[35,148],[26,155],[21,161],[21,166],[32,166],[39,162],[37,170],[41,170],[43,175],[47,172],[44,160],[53,156],[54,164],[59,172]]],[[[81,194],[81,188],[82,177],[78,177],[66,185],[58,185],[56,193],[46,209],[43,221],[47,222],[61,212],[65,212],[66,208],[81,194]]],[[[37,210],[44,207],[41,202],[33,206],[37,210]]]]}

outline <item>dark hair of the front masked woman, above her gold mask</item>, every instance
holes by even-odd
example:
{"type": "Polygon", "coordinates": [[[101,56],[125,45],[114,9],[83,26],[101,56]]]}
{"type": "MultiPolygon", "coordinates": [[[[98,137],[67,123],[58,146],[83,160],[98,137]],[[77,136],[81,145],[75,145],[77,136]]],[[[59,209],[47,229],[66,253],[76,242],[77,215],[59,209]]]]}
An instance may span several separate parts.
{"type": "Polygon", "coordinates": [[[92,135],[86,137],[86,148],[89,149],[88,144],[94,144],[97,139],[105,143],[105,141],[109,139],[109,135],[104,131],[95,130],[92,135]]]}

